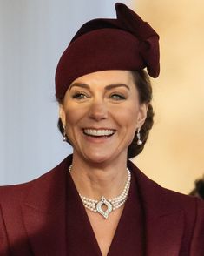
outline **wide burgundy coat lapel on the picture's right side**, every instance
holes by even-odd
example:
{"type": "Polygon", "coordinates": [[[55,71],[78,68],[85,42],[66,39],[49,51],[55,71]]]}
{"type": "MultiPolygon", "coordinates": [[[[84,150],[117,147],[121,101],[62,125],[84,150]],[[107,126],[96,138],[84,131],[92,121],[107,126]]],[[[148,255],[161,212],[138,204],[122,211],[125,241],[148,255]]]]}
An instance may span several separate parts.
{"type": "Polygon", "coordinates": [[[161,186],[148,179],[135,165],[129,165],[135,171],[145,214],[147,255],[180,255],[184,231],[183,211],[178,205],[174,205],[174,199],[167,199],[161,186]]]}

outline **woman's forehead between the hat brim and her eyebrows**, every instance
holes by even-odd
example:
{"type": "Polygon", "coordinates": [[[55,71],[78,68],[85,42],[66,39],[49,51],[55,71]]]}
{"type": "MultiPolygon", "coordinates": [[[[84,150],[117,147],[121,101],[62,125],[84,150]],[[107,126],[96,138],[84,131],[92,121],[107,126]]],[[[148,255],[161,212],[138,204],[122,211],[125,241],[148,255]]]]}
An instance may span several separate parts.
{"type": "MultiPolygon", "coordinates": [[[[109,85],[109,84],[134,84],[134,78],[131,71],[97,71],[89,73],[82,77],[76,78],[72,84],[82,83],[93,85],[109,85]]],[[[72,85],[71,84],[71,85],[72,85]]]]}

